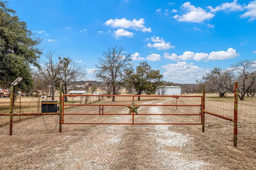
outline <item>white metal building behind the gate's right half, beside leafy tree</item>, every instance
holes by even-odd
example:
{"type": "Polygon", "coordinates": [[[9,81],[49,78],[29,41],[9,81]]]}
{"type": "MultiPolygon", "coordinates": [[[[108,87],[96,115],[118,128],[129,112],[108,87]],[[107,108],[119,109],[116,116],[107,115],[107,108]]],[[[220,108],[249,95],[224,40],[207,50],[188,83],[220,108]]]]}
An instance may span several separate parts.
{"type": "Polygon", "coordinates": [[[181,87],[180,86],[160,86],[156,90],[156,94],[158,95],[181,95],[181,87]]]}

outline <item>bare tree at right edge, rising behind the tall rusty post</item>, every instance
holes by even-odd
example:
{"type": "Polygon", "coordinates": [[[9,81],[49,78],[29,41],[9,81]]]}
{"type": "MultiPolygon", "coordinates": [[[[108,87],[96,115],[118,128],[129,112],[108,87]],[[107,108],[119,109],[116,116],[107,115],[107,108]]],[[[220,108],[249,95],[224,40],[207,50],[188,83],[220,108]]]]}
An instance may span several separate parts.
{"type": "Polygon", "coordinates": [[[236,80],[238,81],[238,90],[240,92],[238,97],[240,100],[244,100],[245,94],[256,84],[255,64],[256,62],[254,60],[248,59],[232,64],[232,68],[236,74],[236,80]]]}

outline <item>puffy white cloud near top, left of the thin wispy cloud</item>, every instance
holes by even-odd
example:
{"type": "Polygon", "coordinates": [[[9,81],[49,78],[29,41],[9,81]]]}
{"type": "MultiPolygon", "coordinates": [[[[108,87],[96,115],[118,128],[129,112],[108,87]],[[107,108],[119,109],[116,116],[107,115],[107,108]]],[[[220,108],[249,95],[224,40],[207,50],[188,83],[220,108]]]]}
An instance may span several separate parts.
{"type": "Polygon", "coordinates": [[[190,2],[184,3],[182,8],[187,10],[187,12],[182,16],[175,15],[173,18],[175,18],[177,21],[201,23],[204,20],[210,20],[214,17],[214,14],[206,12],[206,10],[200,7],[196,8],[195,6],[191,5],[190,2]]]}

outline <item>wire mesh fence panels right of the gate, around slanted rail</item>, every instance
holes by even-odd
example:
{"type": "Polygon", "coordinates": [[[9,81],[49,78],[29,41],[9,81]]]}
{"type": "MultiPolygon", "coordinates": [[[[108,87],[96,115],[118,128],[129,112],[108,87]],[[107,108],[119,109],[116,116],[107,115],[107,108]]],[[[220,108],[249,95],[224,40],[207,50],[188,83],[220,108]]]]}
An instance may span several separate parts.
{"type": "MultiPolygon", "coordinates": [[[[207,101],[205,110],[234,119],[234,102],[207,101]]],[[[233,142],[234,122],[205,114],[205,132],[219,141],[233,142]]],[[[256,145],[256,106],[238,104],[238,147],[256,145]]]]}

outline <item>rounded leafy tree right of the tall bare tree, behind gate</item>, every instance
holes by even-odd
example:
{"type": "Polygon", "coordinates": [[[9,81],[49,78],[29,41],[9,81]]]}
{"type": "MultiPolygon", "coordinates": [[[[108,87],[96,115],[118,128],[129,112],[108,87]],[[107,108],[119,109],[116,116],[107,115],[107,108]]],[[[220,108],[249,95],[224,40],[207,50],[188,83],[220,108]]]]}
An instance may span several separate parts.
{"type": "MultiPolygon", "coordinates": [[[[136,67],[136,73],[132,69],[126,70],[126,80],[128,81],[126,84],[133,84],[138,95],[141,95],[142,91],[146,94],[154,94],[156,88],[162,85],[162,78],[160,70],[152,70],[147,62],[140,63],[136,67]]],[[[138,100],[140,100],[140,96],[138,100]]]]}

